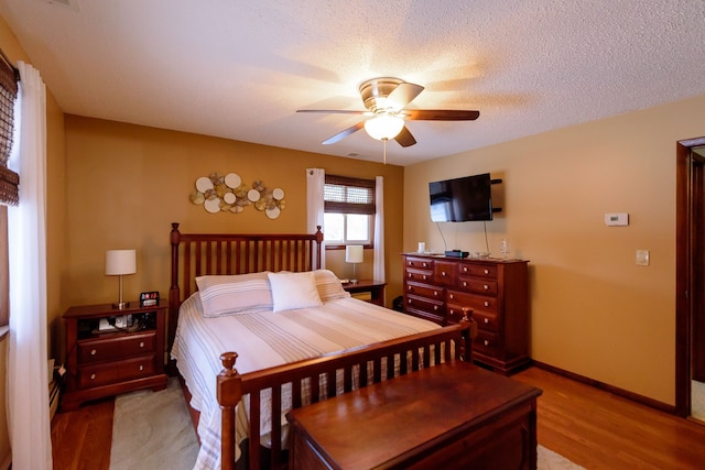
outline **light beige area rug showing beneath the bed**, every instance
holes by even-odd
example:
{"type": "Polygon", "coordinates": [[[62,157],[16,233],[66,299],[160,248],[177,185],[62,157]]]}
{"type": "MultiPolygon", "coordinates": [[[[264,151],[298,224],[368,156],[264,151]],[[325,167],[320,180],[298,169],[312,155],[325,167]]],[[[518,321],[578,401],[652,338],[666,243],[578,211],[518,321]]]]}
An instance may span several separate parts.
{"type": "MultiPolygon", "coordinates": [[[[119,395],[115,401],[110,470],[193,469],[198,441],[178,380],[166,390],[119,395]]],[[[563,456],[539,445],[539,470],[581,470],[563,456]]]]}

